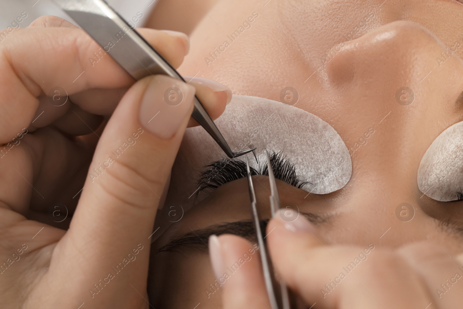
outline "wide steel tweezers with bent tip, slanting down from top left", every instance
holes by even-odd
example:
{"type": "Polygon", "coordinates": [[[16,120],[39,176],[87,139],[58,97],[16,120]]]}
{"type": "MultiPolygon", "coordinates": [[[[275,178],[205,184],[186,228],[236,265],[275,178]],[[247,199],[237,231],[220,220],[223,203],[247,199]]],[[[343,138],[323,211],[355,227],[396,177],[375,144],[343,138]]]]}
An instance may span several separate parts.
{"type": "MultiPolygon", "coordinates": [[[[72,19],[100,44],[135,80],[149,75],[164,74],[185,82],[183,77],[159,52],[142,38],[104,0],[53,0],[72,19]],[[112,44],[109,44],[112,42],[112,44]],[[105,48],[106,47],[106,48],[105,48]]],[[[233,152],[222,133],[207,114],[197,96],[192,116],[206,129],[230,158],[242,156],[253,149],[233,152]]]]}

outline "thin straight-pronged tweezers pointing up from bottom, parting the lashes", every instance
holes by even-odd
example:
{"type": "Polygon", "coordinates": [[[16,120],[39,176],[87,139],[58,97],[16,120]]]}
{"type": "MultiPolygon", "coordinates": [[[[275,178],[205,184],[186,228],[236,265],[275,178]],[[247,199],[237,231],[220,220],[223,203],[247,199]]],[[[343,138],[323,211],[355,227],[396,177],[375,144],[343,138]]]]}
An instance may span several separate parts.
{"type": "MultiPolygon", "coordinates": [[[[281,208],[280,195],[278,194],[275,176],[273,174],[273,168],[272,168],[272,164],[270,163],[270,156],[267,150],[265,150],[265,155],[267,158],[267,166],[269,170],[270,209],[272,213],[272,218],[274,218],[275,215],[277,215],[278,210],[281,208]]],[[[260,249],[259,251],[260,251],[260,257],[262,260],[263,277],[264,277],[265,287],[267,289],[267,295],[269,296],[270,308],[271,309],[290,309],[288,288],[283,279],[280,279],[278,282],[275,279],[272,261],[270,259],[269,251],[264,241],[262,227],[261,227],[261,216],[259,213],[259,209],[257,208],[256,192],[254,191],[254,185],[252,183],[252,177],[251,177],[248,158],[246,158],[246,171],[247,171],[248,183],[249,183],[249,195],[250,195],[250,200],[251,200],[252,221],[256,229],[257,244],[259,245],[259,249],[260,249]]]]}

